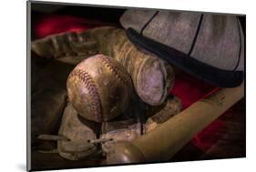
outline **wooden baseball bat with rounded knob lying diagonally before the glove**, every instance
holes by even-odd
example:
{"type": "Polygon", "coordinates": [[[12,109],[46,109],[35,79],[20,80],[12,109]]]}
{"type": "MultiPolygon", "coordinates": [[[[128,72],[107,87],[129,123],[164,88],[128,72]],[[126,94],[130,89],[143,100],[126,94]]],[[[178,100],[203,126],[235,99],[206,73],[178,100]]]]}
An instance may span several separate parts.
{"type": "Polygon", "coordinates": [[[132,142],[118,142],[108,153],[108,164],[169,160],[189,140],[244,96],[244,85],[220,88],[132,142]]]}

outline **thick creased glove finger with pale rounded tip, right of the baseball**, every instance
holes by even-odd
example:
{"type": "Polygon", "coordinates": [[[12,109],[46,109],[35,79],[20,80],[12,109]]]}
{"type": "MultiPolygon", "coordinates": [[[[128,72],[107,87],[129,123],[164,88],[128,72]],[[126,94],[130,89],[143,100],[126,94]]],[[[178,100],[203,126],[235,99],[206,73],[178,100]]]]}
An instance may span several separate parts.
{"type": "Polygon", "coordinates": [[[164,60],[138,49],[126,33],[119,32],[115,58],[127,68],[138,96],[151,106],[162,104],[174,84],[174,70],[164,60]]]}

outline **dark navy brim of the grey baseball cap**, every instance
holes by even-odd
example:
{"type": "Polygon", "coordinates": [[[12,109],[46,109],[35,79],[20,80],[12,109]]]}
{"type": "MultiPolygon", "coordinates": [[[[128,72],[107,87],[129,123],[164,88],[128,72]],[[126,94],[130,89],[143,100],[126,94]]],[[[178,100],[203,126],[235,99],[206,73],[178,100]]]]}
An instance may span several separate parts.
{"type": "Polygon", "coordinates": [[[213,86],[235,87],[240,86],[243,81],[243,71],[224,70],[207,65],[179,50],[139,35],[132,28],[128,28],[127,35],[134,45],[159,56],[171,65],[177,66],[191,76],[198,77],[213,86]]]}

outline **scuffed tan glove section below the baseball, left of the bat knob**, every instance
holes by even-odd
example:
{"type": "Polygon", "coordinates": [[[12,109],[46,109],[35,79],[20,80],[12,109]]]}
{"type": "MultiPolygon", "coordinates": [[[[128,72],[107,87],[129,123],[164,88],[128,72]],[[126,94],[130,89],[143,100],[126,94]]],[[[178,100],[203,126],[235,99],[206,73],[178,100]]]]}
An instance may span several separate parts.
{"type": "Polygon", "coordinates": [[[58,154],[70,160],[79,160],[96,153],[97,146],[89,143],[88,140],[97,138],[97,128],[97,124],[79,116],[76,109],[68,104],[58,135],[67,137],[69,140],[57,142],[58,154]]]}

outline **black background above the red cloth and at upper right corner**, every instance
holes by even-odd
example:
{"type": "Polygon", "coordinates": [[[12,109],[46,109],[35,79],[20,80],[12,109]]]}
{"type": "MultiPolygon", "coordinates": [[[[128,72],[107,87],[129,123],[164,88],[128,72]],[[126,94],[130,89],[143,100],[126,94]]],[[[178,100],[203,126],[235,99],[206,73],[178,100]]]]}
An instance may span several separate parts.
{"type": "MultiPolygon", "coordinates": [[[[84,6],[84,5],[50,5],[35,3],[31,7],[31,27],[32,27],[32,40],[36,39],[33,28],[38,24],[46,15],[73,15],[83,17],[90,20],[97,20],[109,25],[119,25],[119,17],[124,13],[127,8],[125,7],[111,7],[111,6],[84,6]]],[[[246,16],[240,15],[242,30],[246,34],[246,16]]]]}

